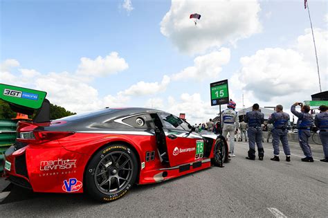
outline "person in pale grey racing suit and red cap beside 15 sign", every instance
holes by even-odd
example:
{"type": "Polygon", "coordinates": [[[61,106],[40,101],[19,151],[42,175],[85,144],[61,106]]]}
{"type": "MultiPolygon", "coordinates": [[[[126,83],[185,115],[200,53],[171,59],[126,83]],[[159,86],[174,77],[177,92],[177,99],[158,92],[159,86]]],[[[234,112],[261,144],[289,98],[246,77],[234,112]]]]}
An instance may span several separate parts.
{"type": "Polygon", "coordinates": [[[228,133],[230,136],[230,144],[229,144],[229,154],[230,156],[235,156],[233,153],[233,149],[235,147],[235,134],[237,134],[238,127],[239,127],[239,120],[238,120],[238,115],[237,112],[235,111],[236,109],[236,103],[230,99],[230,102],[227,105],[227,109],[225,109],[221,113],[221,120],[224,125],[223,127],[223,132],[222,136],[224,138],[227,138],[228,133]]]}

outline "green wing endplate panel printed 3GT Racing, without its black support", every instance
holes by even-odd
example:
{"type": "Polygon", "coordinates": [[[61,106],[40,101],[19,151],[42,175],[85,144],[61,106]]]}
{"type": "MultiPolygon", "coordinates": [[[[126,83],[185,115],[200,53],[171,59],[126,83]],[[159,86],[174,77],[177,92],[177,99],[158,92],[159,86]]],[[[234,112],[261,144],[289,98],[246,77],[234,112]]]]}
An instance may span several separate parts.
{"type": "Polygon", "coordinates": [[[0,99],[15,105],[28,107],[31,109],[39,109],[42,107],[42,102],[44,102],[45,98],[45,91],[37,91],[23,87],[14,87],[8,84],[0,84],[0,99]]]}

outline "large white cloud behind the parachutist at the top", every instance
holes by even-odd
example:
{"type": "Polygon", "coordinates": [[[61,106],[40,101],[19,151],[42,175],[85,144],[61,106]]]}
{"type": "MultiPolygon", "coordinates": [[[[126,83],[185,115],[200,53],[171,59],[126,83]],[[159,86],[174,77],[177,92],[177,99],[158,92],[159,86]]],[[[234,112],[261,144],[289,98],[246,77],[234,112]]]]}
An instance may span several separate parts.
{"type": "Polygon", "coordinates": [[[181,1],[161,21],[161,33],[183,53],[203,53],[208,48],[250,37],[261,30],[259,3],[250,1],[181,1]],[[197,12],[197,26],[189,19],[197,12]]]}

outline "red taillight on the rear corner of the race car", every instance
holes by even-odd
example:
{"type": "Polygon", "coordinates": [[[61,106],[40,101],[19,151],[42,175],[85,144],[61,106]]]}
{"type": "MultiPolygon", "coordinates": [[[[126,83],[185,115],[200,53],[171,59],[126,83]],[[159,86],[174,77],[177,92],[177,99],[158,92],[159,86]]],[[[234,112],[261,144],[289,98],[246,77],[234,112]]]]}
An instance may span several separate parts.
{"type": "Polygon", "coordinates": [[[28,131],[19,133],[17,140],[24,143],[46,143],[73,135],[72,131],[28,131]]]}

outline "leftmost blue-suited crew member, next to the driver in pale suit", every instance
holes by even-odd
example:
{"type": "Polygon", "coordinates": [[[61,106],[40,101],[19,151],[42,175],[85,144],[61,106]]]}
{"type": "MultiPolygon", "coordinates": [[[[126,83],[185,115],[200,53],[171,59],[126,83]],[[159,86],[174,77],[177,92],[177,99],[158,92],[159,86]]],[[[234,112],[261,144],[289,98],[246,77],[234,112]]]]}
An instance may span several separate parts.
{"type": "Polygon", "coordinates": [[[263,161],[264,148],[262,145],[262,128],[264,123],[264,113],[259,111],[259,105],[254,104],[252,111],[246,113],[245,122],[248,123],[248,156],[246,159],[255,161],[255,143],[259,153],[259,160],[263,161]]]}

